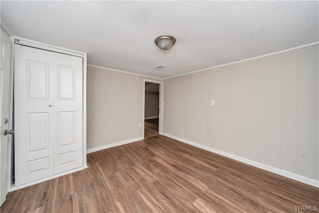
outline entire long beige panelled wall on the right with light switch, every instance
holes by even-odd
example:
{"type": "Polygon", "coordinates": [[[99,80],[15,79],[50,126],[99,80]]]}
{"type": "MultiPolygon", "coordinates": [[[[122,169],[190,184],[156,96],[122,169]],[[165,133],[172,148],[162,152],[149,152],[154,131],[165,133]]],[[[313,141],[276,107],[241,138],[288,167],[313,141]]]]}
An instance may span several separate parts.
{"type": "Polygon", "coordinates": [[[318,180],[318,57],[313,45],[166,79],[163,133],[318,180]]]}

